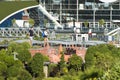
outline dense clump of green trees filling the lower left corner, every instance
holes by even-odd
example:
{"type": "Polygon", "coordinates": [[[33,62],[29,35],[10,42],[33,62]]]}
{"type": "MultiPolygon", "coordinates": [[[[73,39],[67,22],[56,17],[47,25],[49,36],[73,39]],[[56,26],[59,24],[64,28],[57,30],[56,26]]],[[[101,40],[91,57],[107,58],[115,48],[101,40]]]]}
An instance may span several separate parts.
{"type": "Polygon", "coordinates": [[[0,50],[0,80],[2,77],[5,80],[32,80],[32,76],[24,69],[22,63],[31,59],[29,48],[28,43],[11,43],[8,50],[0,50]],[[19,60],[14,60],[13,52],[18,53],[19,60]]]}

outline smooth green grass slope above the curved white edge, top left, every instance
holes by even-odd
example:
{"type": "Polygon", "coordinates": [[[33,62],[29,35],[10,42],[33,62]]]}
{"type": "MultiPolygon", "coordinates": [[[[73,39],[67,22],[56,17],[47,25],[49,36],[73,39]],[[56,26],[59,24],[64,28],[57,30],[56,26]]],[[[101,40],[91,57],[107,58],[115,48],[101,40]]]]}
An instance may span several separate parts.
{"type": "Polygon", "coordinates": [[[34,6],[36,1],[1,1],[0,2],[0,21],[11,13],[25,7],[34,6]]]}

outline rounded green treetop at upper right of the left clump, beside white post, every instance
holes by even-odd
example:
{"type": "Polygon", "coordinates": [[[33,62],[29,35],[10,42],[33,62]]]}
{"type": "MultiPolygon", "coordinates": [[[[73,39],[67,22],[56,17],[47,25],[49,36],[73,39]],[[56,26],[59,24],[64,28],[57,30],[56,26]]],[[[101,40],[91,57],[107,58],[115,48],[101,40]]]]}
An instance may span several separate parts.
{"type": "Polygon", "coordinates": [[[31,54],[28,50],[29,48],[30,48],[30,44],[28,42],[23,42],[23,43],[12,42],[8,46],[8,52],[18,53],[17,58],[25,63],[31,59],[31,54]]]}

